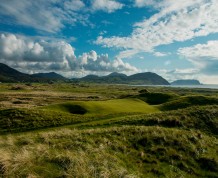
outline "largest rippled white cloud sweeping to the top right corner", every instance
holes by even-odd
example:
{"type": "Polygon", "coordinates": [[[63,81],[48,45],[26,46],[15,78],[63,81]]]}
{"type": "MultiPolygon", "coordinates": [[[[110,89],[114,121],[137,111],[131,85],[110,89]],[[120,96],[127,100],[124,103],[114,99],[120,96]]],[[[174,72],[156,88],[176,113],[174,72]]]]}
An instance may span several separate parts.
{"type": "Polygon", "coordinates": [[[95,43],[124,51],[155,54],[157,46],[218,32],[217,0],[138,0],[135,4],[138,7],[152,6],[159,12],[136,23],[130,36],[99,36],[95,43]]]}

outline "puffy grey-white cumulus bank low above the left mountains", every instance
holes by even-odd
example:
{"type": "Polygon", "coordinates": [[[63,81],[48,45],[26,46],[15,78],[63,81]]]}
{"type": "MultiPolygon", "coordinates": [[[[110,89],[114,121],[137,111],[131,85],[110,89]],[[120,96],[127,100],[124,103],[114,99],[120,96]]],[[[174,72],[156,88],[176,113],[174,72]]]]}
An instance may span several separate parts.
{"type": "Polygon", "coordinates": [[[137,72],[121,59],[110,60],[95,51],[76,57],[74,48],[65,41],[36,40],[14,34],[0,35],[0,62],[23,72],[57,71],[72,76],[74,72],[137,72]]]}

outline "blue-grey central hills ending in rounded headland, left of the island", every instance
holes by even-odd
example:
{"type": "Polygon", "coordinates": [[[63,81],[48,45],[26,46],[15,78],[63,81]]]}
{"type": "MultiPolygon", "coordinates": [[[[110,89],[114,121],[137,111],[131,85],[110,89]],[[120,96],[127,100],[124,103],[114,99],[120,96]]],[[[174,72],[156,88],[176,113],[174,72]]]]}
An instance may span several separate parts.
{"type": "Polygon", "coordinates": [[[74,79],[90,83],[108,83],[108,84],[133,84],[133,85],[169,85],[169,82],[161,76],[151,73],[138,73],[127,76],[121,73],[111,73],[107,76],[87,75],[80,79],[74,79]]]}

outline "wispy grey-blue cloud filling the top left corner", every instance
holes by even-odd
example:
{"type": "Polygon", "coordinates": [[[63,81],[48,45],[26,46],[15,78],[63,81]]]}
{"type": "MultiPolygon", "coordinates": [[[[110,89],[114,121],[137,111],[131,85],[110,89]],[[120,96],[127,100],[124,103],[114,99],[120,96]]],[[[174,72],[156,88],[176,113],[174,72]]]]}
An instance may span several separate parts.
{"type": "Polygon", "coordinates": [[[78,13],[84,8],[81,0],[17,0],[0,3],[0,15],[5,23],[15,23],[46,32],[57,32],[67,25],[88,23],[87,15],[78,13]]]}

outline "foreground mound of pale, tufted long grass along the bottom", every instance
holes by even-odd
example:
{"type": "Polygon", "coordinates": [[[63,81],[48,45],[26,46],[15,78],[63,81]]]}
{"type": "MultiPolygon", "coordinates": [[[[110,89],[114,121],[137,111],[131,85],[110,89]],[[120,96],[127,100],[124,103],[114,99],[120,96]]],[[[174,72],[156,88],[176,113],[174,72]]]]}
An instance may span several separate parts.
{"type": "Polygon", "coordinates": [[[216,177],[218,171],[215,137],[156,126],[1,136],[0,152],[3,177],[216,177]]]}

